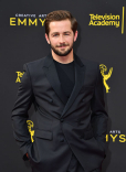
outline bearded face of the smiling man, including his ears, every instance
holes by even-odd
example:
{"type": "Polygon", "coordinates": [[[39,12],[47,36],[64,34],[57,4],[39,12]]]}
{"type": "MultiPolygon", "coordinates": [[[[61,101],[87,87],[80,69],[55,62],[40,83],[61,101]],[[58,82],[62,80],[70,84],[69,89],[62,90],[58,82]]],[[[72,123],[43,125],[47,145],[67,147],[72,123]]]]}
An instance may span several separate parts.
{"type": "Polygon", "coordinates": [[[52,51],[59,56],[65,56],[73,50],[76,37],[77,31],[73,33],[70,20],[51,22],[49,36],[45,34],[52,51]]]}

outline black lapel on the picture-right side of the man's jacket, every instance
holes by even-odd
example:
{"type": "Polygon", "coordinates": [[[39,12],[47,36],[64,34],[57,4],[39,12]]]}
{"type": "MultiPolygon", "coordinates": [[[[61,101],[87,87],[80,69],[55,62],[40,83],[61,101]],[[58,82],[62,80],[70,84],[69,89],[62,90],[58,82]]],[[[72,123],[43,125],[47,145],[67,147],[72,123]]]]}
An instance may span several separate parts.
{"type": "Polygon", "coordinates": [[[69,108],[72,106],[73,101],[75,100],[84,83],[84,72],[85,72],[84,64],[75,54],[74,54],[74,61],[75,61],[75,85],[61,116],[64,116],[66,111],[69,110],[69,108]]]}

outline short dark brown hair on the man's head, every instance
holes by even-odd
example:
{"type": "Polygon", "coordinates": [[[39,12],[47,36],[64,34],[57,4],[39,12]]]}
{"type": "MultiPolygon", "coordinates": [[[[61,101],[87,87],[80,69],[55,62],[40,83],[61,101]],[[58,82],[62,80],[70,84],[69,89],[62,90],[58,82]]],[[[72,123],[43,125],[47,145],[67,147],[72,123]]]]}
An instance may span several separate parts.
{"type": "Polygon", "coordinates": [[[45,33],[49,35],[50,32],[50,23],[52,21],[62,21],[62,20],[70,20],[71,22],[71,29],[75,34],[75,31],[77,30],[77,21],[76,19],[71,14],[70,11],[65,11],[65,10],[57,10],[57,11],[52,11],[50,12],[46,18],[45,18],[45,22],[44,22],[44,26],[45,26],[45,33]]]}

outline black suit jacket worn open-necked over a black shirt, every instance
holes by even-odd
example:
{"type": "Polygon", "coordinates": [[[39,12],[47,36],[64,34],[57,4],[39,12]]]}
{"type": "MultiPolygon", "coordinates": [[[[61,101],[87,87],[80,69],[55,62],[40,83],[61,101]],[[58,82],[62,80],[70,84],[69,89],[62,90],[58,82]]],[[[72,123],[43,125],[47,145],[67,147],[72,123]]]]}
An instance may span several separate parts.
{"type": "Polygon", "coordinates": [[[75,54],[74,61],[75,86],[67,103],[51,54],[24,64],[12,109],[13,133],[22,154],[28,152],[32,165],[43,172],[66,171],[72,152],[90,172],[106,152],[108,117],[99,66],[75,54]],[[32,103],[38,120],[33,143],[27,126],[32,103]]]}

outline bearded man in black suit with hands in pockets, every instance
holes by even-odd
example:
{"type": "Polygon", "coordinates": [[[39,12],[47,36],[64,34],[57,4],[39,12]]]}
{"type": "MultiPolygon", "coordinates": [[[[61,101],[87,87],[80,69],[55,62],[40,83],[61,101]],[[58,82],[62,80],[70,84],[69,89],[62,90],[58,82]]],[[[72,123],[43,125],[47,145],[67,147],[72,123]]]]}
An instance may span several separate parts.
{"type": "Polygon", "coordinates": [[[45,39],[51,53],[24,64],[12,110],[14,138],[33,172],[99,172],[107,129],[99,66],[73,53],[77,22],[69,11],[46,15],[45,39]],[[27,126],[32,103],[33,143],[27,126]]]}

